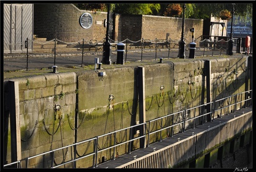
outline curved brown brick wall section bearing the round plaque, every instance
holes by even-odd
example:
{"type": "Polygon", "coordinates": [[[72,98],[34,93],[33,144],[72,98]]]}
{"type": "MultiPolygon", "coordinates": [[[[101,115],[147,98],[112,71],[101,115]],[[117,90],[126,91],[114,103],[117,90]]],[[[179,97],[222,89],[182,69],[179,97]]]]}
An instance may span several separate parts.
{"type": "Polygon", "coordinates": [[[34,34],[38,37],[62,41],[78,41],[105,38],[104,19],[106,12],[89,12],[92,15],[92,25],[85,29],[79,24],[84,10],[79,10],[72,4],[34,4],[34,34]],[[98,24],[100,22],[100,24],[98,24]]]}

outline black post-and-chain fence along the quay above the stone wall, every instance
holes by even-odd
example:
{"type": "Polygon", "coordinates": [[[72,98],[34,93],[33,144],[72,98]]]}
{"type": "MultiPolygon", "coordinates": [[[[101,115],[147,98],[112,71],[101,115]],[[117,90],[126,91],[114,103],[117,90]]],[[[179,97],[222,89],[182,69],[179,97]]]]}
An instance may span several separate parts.
{"type": "MultiPolygon", "coordinates": [[[[196,43],[195,56],[213,56],[226,54],[228,50],[229,38],[228,37],[214,37],[200,36],[194,40],[196,43]]],[[[250,50],[246,50],[244,46],[244,38],[233,38],[233,52],[241,53],[248,51],[252,53],[252,41],[250,50]]],[[[251,38],[252,40],[252,38],[251,38]]],[[[79,40],[73,43],[67,43],[57,38],[49,41],[33,41],[27,39],[23,44],[27,47],[26,54],[4,54],[4,71],[17,71],[17,70],[34,70],[58,67],[84,67],[88,64],[94,64],[94,58],[91,56],[103,57],[104,51],[103,40],[79,40]],[[33,44],[33,52],[28,50],[29,45],[33,44]],[[37,48],[36,48],[37,47],[37,48]],[[15,58],[17,57],[17,58],[15,58]],[[23,58],[24,57],[24,58],[23,58]],[[65,57],[69,57],[66,60],[65,57]],[[44,59],[40,61],[40,59],[44,59]],[[20,60],[20,63],[13,63],[14,60],[20,60]],[[60,63],[61,62],[61,63],[60,63]]],[[[111,54],[116,55],[117,43],[125,44],[124,61],[138,61],[138,60],[157,60],[165,58],[177,58],[179,51],[180,40],[163,39],[145,39],[132,41],[127,38],[123,41],[116,41],[110,39],[111,54]]],[[[190,53],[190,37],[185,38],[185,48],[190,53]]],[[[13,46],[5,43],[5,46],[13,46]]],[[[188,57],[188,56],[187,56],[188,57]]],[[[114,57],[113,59],[115,59],[114,57]]]]}

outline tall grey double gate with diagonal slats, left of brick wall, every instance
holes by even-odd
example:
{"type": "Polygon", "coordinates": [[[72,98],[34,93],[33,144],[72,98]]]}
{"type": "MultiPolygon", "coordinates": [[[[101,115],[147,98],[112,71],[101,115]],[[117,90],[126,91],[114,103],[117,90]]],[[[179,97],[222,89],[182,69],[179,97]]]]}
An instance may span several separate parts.
{"type": "Polygon", "coordinates": [[[25,52],[27,38],[33,40],[33,4],[4,4],[4,53],[25,52]]]}

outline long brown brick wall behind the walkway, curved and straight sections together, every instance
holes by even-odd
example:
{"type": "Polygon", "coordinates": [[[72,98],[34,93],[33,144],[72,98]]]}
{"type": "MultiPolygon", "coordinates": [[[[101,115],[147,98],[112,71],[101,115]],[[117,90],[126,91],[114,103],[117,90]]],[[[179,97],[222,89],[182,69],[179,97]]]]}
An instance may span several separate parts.
{"type": "MultiPolygon", "coordinates": [[[[138,41],[142,38],[154,40],[168,39],[179,40],[181,38],[182,18],[161,17],[152,15],[119,15],[114,19],[113,39],[124,41],[126,38],[138,41]]],[[[106,28],[104,20],[107,12],[85,11],[76,8],[72,4],[34,4],[34,34],[38,37],[52,40],[57,38],[62,41],[76,42],[105,38],[106,28]],[[84,12],[92,15],[90,28],[82,28],[79,18],[84,12]]],[[[195,28],[194,38],[203,35],[203,20],[185,19],[184,38],[189,42],[190,28],[195,28]]]]}

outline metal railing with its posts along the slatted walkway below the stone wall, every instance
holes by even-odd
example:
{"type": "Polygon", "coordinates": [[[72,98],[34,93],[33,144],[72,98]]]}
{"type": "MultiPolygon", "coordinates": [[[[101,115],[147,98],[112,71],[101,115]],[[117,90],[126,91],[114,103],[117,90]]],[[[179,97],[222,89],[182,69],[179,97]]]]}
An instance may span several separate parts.
{"type": "MultiPolygon", "coordinates": [[[[172,136],[172,134],[173,134],[172,129],[177,125],[181,126],[180,132],[185,132],[187,129],[191,129],[191,128],[196,127],[195,121],[196,121],[197,118],[202,118],[203,119],[202,121],[204,123],[204,117],[207,116],[207,115],[210,115],[211,121],[214,121],[217,118],[222,118],[223,115],[228,115],[229,113],[236,112],[238,110],[241,110],[241,109],[247,108],[249,106],[252,106],[252,96],[251,95],[252,95],[252,90],[248,90],[248,91],[245,91],[245,92],[242,92],[242,93],[238,93],[236,95],[228,96],[226,98],[214,100],[212,102],[205,103],[203,105],[195,106],[193,108],[184,109],[183,111],[180,111],[180,112],[175,112],[175,113],[172,113],[172,114],[169,114],[169,115],[162,116],[160,118],[152,119],[152,120],[149,120],[149,121],[147,121],[145,123],[142,123],[142,124],[133,125],[133,126],[123,128],[123,129],[119,129],[117,131],[113,131],[113,132],[110,132],[110,133],[107,133],[107,134],[99,135],[95,138],[90,138],[90,139],[87,139],[87,140],[84,140],[84,141],[76,142],[72,145],[67,145],[66,147],[57,148],[57,149],[52,150],[52,151],[43,152],[41,154],[25,158],[24,160],[27,161],[27,167],[26,168],[29,167],[29,161],[30,160],[34,160],[34,158],[38,158],[38,157],[40,157],[40,160],[42,160],[47,155],[49,155],[49,159],[52,161],[52,163],[50,163],[50,167],[46,167],[46,168],[57,168],[57,167],[60,167],[60,166],[63,166],[63,165],[69,164],[69,163],[72,163],[72,167],[76,168],[76,161],[81,160],[83,158],[91,157],[91,156],[92,156],[92,167],[97,167],[97,159],[98,159],[98,154],[100,152],[109,151],[109,150],[111,151],[111,149],[113,149],[114,152],[113,152],[113,155],[112,155],[112,159],[115,160],[115,158],[116,158],[115,155],[117,154],[117,156],[118,156],[118,152],[115,152],[115,149],[117,147],[119,147],[120,145],[129,144],[128,145],[128,150],[129,151],[127,153],[130,153],[131,150],[132,150],[131,146],[132,146],[133,141],[136,141],[140,138],[145,138],[145,139],[147,138],[148,139],[147,146],[149,147],[149,139],[150,139],[150,135],[152,135],[152,134],[156,134],[156,133],[159,132],[161,137],[159,138],[158,141],[161,141],[162,140],[161,132],[165,129],[171,129],[171,136],[172,136]],[[219,103],[219,102],[221,102],[221,103],[219,103]],[[217,106],[218,103],[219,103],[219,106],[217,106]],[[204,111],[206,105],[210,105],[210,107],[211,107],[210,112],[205,112],[204,111]],[[189,116],[189,112],[191,112],[191,111],[195,112],[195,111],[197,111],[197,109],[199,109],[198,110],[198,112],[199,112],[198,116],[196,116],[196,113],[194,113],[194,116],[189,116]],[[203,112],[203,113],[200,114],[200,112],[203,112]],[[181,116],[180,120],[174,122],[173,121],[174,115],[181,116]],[[164,119],[168,119],[168,118],[171,118],[172,122],[169,125],[163,125],[164,119]],[[185,125],[186,122],[188,122],[188,121],[192,121],[193,125],[191,125],[191,127],[185,125]],[[160,124],[160,126],[158,128],[156,128],[154,131],[151,131],[151,129],[152,129],[151,125],[154,124],[154,123],[160,124]],[[140,126],[143,126],[145,128],[144,129],[145,132],[140,133],[140,135],[138,137],[135,137],[132,133],[134,131],[136,131],[136,129],[140,126]],[[129,132],[130,133],[129,134],[129,139],[126,139],[126,140],[123,140],[123,141],[117,141],[117,139],[118,139],[117,135],[122,134],[122,132],[124,132],[124,133],[129,132]],[[107,142],[107,139],[104,139],[104,138],[105,137],[111,138],[111,135],[114,135],[114,137],[113,137],[114,141],[111,142],[112,144],[108,145],[108,147],[100,148],[100,141],[107,142]],[[91,144],[92,141],[94,142],[93,144],[91,144]],[[77,151],[78,146],[79,145],[85,146],[85,144],[87,144],[87,148],[91,145],[93,151],[88,152],[87,154],[84,153],[84,155],[79,155],[77,157],[76,155],[78,155],[78,151],[77,151]],[[72,148],[73,148],[73,158],[71,158],[71,160],[68,160],[68,161],[63,160],[62,163],[56,164],[55,163],[55,152],[63,150],[65,148],[66,148],[66,152],[68,152],[69,149],[72,150],[72,148]]],[[[197,125],[201,125],[201,124],[197,124],[197,125]]],[[[155,127],[153,127],[153,128],[155,128],[155,127]]],[[[104,145],[106,145],[106,144],[104,144],[104,145]]],[[[66,155],[65,155],[65,157],[66,157],[66,155]]],[[[20,160],[20,161],[12,162],[12,163],[9,163],[9,164],[5,164],[4,168],[8,168],[8,167],[21,168],[21,161],[24,161],[24,160],[20,160]],[[15,167],[13,165],[15,165],[15,167]]]]}

